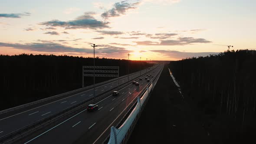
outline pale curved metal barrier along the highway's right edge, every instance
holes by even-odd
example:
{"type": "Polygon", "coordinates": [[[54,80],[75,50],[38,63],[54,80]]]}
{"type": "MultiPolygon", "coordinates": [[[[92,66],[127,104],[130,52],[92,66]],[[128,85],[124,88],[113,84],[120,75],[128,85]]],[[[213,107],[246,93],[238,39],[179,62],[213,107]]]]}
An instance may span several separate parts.
{"type": "MultiPolygon", "coordinates": [[[[162,70],[163,69],[161,69],[161,72],[162,70]]],[[[159,71],[158,74],[159,73],[161,74],[161,72],[159,71]]],[[[154,77],[154,79],[157,77],[157,75],[154,77]]],[[[119,128],[116,128],[114,126],[111,127],[110,136],[108,136],[109,140],[108,138],[105,139],[103,144],[105,144],[107,140],[108,140],[108,144],[125,143],[125,140],[128,137],[128,134],[131,132],[135,122],[138,120],[140,112],[142,111],[142,109],[144,108],[144,105],[146,104],[145,101],[148,99],[148,97],[151,94],[151,91],[155,86],[153,83],[154,79],[152,79],[151,83],[147,85],[146,91],[142,91],[142,93],[139,94],[140,96],[137,97],[137,101],[133,104],[133,106],[129,110],[129,111],[131,110],[132,111],[131,112],[128,111],[127,114],[124,116],[125,118],[129,114],[126,120],[123,122],[123,124],[119,128]]],[[[123,121],[124,118],[122,118],[121,121],[123,121]]],[[[120,122],[117,125],[119,125],[120,122]]]]}

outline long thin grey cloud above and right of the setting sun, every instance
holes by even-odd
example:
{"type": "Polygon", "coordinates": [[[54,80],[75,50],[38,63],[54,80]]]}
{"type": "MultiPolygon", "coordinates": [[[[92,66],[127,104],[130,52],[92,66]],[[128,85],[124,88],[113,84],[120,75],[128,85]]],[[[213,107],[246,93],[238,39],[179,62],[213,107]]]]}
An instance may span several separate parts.
{"type": "Polygon", "coordinates": [[[152,41],[135,41],[133,43],[137,43],[137,45],[145,45],[145,46],[184,46],[193,43],[211,43],[206,39],[195,39],[193,37],[180,37],[178,39],[167,39],[160,40],[159,42],[152,41]]]}

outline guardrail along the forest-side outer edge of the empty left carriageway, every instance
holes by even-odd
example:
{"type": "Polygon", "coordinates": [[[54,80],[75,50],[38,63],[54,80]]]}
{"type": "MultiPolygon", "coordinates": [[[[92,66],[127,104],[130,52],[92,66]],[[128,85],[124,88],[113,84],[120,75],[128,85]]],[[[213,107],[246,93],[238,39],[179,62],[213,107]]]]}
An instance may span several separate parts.
{"type": "MultiPolygon", "coordinates": [[[[144,70],[145,70],[145,69],[144,69],[144,70]]],[[[131,75],[136,75],[136,74],[138,74],[138,73],[139,73],[139,71],[138,71],[138,72],[134,72],[134,73],[132,73],[131,75]]],[[[123,79],[123,78],[125,78],[125,77],[127,77],[127,75],[123,75],[123,76],[119,77],[119,80],[120,80],[120,79],[123,79]]],[[[100,82],[100,83],[98,83],[98,84],[95,84],[95,87],[100,86],[100,85],[104,85],[104,84],[106,84],[106,83],[108,83],[108,82],[112,82],[112,81],[114,82],[114,81],[116,81],[116,80],[118,80],[118,78],[110,79],[110,80],[105,81],[105,82],[100,82]]],[[[59,98],[59,97],[64,96],[64,95],[69,95],[69,94],[71,94],[71,93],[75,93],[75,92],[79,92],[79,91],[82,91],[82,90],[85,90],[85,89],[89,89],[89,88],[93,88],[93,85],[89,85],[89,86],[84,87],[84,88],[75,89],[75,90],[73,90],[73,91],[65,92],[65,93],[62,93],[62,94],[59,94],[59,95],[54,95],[54,96],[51,96],[51,97],[49,97],[49,98],[40,99],[40,100],[38,100],[38,101],[33,101],[33,102],[30,102],[30,103],[27,103],[27,104],[24,104],[24,105],[19,105],[19,106],[13,107],[13,108],[8,108],[8,109],[5,109],[5,110],[0,111],[0,115],[1,115],[1,114],[4,114],[4,113],[7,113],[7,112],[10,112],[10,111],[18,110],[18,109],[20,109],[20,108],[26,108],[26,107],[28,107],[28,106],[35,105],[35,104],[38,104],[38,103],[41,103],[41,102],[44,102],[44,101],[49,101],[49,100],[51,100],[51,99],[53,99],[53,98],[59,98]]]]}

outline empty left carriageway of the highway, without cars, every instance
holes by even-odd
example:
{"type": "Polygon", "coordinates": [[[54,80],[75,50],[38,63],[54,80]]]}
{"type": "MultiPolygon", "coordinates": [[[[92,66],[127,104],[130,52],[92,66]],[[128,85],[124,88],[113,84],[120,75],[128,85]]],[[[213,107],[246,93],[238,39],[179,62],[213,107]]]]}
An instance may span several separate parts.
{"type": "MultiPolygon", "coordinates": [[[[141,75],[146,70],[141,71],[141,75]]],[[[140,75],[136,72],[129,75],[129,80],[135,79],[140,75]]],[[[119,79],[119,85],[126,83],[128,78],[119,79]]],[[[100,95],[112,88],[118,86],[118,81],[109,82],[105,85],[100,85],[95,88],[95,95],[100,95]]],[[[61,97],[55,101],[47,101],[42,104],[37,104],[23,109],[22,111],[11,111],[10,113],[0,115],[0,138],[6,134],[23,128],[29,124],[39,121],[49,115],[54,115],[63,109],[76,105],[80,101],[93,97],[93,88],[79,93],[70,94],[66,97],[61,97]]],[[[104,109],[104,108],[103,108],[104,109]]]]}

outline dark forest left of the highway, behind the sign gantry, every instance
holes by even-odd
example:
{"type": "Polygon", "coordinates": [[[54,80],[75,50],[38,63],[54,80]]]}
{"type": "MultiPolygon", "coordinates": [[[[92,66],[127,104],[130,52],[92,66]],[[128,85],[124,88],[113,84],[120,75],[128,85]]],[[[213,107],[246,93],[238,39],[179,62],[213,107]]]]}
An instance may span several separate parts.
{"type": "MultiPolygon", "coordinates": [[[[82,87],[82,66],[93,58],[78,56],[0,55],[0,110],[58,95],[82,87]]],[[[119,66],[119,76],[145,69],[152,64],[126,59],[95,58],[95,66],[119,66]]],[[[93,77],[85,78],[85,86],[93,77]]],[[[113,78],[95,77],[95,83],[113,78]]]]}

